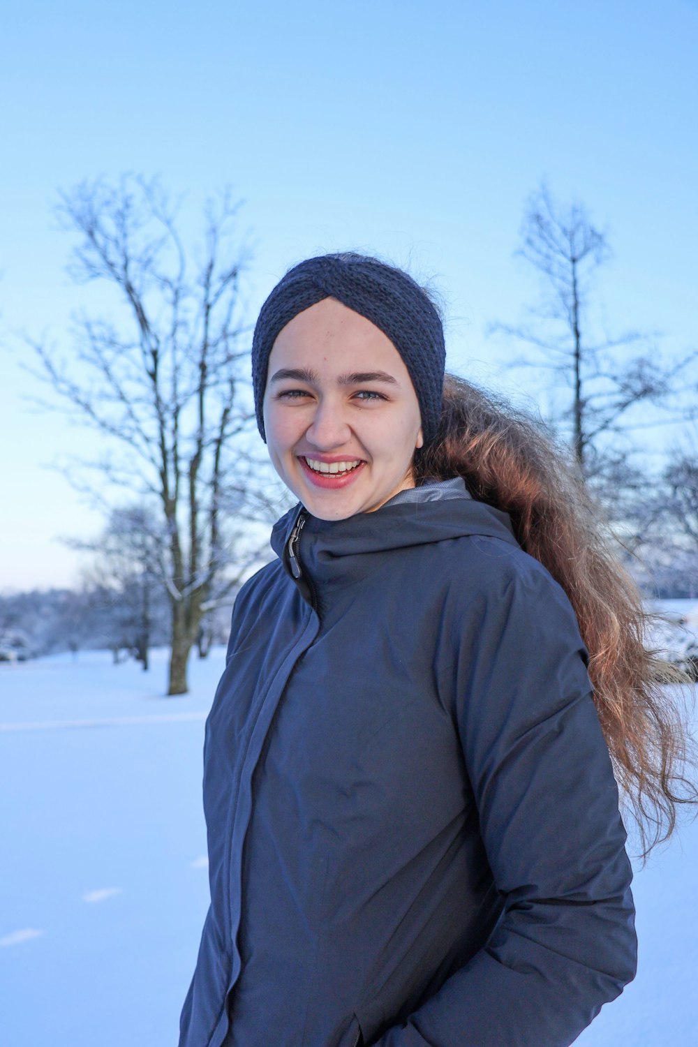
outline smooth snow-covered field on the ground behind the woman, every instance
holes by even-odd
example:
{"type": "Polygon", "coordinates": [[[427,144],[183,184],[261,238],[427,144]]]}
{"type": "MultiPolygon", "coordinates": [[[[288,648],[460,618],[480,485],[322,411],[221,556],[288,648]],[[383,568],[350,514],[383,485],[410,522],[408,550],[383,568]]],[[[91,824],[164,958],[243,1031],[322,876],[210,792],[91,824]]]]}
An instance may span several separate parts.
{"type": "MultiPolygon", "coordinates": [[[[175,1047],[207,906],[204,718],[104,652],[0,666],[0,1045],[175,1047]]],[[[698,823],[637,871],[639,970],[582,1047],[698,1044],[698,823]]],[[[270,1045],[271,1047],[271,1045],[270,1045]]],[[[503,1045],[502,1045],[503,1047],[503,1045]]]]}

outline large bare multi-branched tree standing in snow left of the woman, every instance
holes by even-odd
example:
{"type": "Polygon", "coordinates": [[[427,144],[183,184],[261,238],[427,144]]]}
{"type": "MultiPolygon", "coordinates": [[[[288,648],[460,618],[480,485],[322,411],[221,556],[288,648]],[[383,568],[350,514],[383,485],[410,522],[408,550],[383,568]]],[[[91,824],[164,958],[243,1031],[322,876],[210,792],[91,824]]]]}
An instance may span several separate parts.
{"type": "Polygon", "coordinates": [[[116,290],[119,318],[83,317],[72,362],[31,342],[43,378],[108,438],[108,453],[80,463],[97,472],[88,486],[107,481],[159,505],[172,611],[170,694],[187,690],[188,654],[211,593],[220,599],[235,585],[224,581],[221,505],[252,417],[241,381],[249,329],[240,277],[248,252],[238,240],[238,209],[229,194],[206,206],[194,264],[178,209],[157,180],[125,176],[117,185],[83,182],[62,194],[63,225],[80,236],[70,271],[116,290]]]}

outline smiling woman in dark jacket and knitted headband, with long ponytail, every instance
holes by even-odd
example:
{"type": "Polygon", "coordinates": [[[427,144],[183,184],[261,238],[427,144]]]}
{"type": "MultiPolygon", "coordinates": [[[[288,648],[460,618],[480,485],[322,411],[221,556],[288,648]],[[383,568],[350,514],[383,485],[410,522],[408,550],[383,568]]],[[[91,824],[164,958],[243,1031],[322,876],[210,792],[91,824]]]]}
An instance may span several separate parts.
{"type": "Polygon", "coordinates": [[[302,262],[262,308],[257,423],[298,505],[206,725],[180,1047],[563,1047],[634,976],[613,767],[671,829],[680,677],[563,453],[444,360],[376,259],[302,262]]]}

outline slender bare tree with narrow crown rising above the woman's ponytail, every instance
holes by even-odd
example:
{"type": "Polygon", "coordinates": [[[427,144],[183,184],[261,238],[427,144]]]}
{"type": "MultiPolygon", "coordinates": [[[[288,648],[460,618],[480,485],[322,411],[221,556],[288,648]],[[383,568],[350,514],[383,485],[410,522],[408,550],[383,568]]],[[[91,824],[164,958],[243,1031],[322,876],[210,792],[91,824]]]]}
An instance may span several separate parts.
{"type": "MultiPolygon", "coordinates": [[[[604,438],[636,427],[628,419],[631,408],[665,405],[674,392],[674,379],[696,354],[662,365],[653,338],[637,331],[594,337],[591,292],[610,248],[582,204],[560,206],[542,184],[528,199],[521,240],[517,253],[542,274],[547,294],[532,310],[534,324],[495,324],[490,331],[538,351],[536,359],[518,358],[510,361],[511,366],[549,369],[554,384],[562,382],[571,391],[567,406],[550,421],[570,428],[573,456],[585,477],[603,484],[605,476],[605,486],[612,486],[613,474],[617,478],[618,470],[630,467],[617,441],[609,451],[604,438]],[[631,347],[640,351],[628,355],[631,347]]],[[[636,477],[636,470],[630,471],[636,477]]]]}

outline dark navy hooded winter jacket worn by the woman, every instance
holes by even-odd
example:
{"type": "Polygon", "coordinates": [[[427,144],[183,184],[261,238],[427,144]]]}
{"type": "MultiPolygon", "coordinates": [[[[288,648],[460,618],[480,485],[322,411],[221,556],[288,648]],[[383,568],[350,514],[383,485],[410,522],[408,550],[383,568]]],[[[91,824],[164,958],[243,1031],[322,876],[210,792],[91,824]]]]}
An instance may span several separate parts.
{"type": "Polygon", "coordinates": [[[469,498],[296,506],[206,722],[180,1047],[567,1047],[635,972],[571,605],[469,498]]]}

